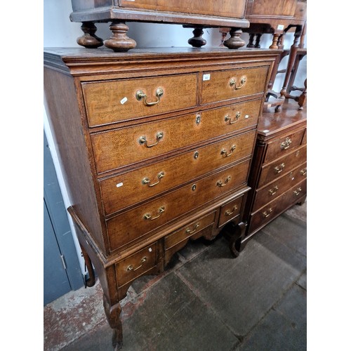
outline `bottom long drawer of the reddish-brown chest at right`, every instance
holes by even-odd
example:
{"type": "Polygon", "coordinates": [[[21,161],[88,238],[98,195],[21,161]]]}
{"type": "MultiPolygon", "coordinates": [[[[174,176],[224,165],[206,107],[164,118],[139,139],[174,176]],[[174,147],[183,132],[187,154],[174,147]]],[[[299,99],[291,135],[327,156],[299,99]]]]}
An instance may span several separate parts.
{"type": "Polygon", "coordinates": [[[286,208],[289,208],[296,201],[303,197],[307,193],[307,180],[296,184],[291,187],[287,192],[274,199],[272,202],[260,208],[256,213],[253,213],[250,222],[250,232],[255,231],[258,227],[265,225],[270,222],[272,218],[278,216],[286,208]]]}

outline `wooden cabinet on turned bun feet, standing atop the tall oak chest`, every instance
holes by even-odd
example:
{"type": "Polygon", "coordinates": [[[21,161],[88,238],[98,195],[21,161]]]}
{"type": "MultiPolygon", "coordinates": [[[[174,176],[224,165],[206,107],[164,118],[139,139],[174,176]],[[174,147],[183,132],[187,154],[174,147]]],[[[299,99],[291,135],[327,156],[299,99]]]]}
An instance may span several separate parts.
{"type": "Polygon", "coordinates": [[[228,48],[244,46],[240,39],[241,28],[249,27],[244,18],[247,0],[72,0],[73,12],[70,19],[82,22],[83,37],[77,42],[86,48],[97,48],[105,44],[113,51],[128,51],[136,43],[128,38],[126,22],[174,23],[185,27],[194,27],[194,37],[188,43],[201,47],[206,41],[201,37],[206,27],[230,27],[231,38],[228,48]],[[95,35],[96,22],[112,22],[112,37],[102,41],[95,35]]]}

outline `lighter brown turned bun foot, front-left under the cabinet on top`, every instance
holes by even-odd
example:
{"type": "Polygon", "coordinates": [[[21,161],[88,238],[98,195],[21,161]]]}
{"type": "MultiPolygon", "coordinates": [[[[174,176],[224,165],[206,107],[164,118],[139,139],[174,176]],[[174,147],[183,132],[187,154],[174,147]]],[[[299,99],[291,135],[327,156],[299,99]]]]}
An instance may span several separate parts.
{"type": "Polygon", "coordinates": [[[128,26],[124,22],[112,21],[110,25],[112,37],[104,41],[107,48],[111,48],[114,52],[126,52],[131,48],[135,48],[135,40],[128,38],[128,26]]]}

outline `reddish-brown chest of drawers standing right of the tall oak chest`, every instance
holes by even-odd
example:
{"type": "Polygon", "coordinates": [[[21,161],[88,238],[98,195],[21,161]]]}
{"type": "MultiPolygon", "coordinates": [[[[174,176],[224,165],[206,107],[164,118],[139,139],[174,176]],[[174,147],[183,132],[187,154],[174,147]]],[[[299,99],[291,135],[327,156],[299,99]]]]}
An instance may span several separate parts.
{"type": "Polygon", "coordinates": [[[306,198],[307,110],[298,111],[295,101],[284,102],[282,107],[279,113],[263,112],[258,124],[243,246],[271,220],[306,198]]]}

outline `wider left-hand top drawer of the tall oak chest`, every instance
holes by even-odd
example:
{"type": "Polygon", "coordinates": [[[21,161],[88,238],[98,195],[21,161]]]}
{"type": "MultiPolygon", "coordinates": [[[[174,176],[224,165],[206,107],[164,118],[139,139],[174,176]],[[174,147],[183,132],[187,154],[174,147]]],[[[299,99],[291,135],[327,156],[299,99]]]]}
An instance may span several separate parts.
{"type": "Polygon", "coordinates": [[[197,105],[197,74],[98,81],[81,86],[91,127],[197,105]],[[136,93],[143,91],[147,103],[156,102],[157,89],[163,95],[155,105],[146,106],[143,99],[136,98],[136,93]]]}

